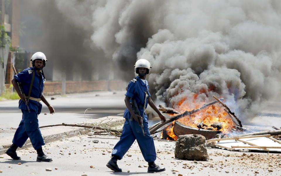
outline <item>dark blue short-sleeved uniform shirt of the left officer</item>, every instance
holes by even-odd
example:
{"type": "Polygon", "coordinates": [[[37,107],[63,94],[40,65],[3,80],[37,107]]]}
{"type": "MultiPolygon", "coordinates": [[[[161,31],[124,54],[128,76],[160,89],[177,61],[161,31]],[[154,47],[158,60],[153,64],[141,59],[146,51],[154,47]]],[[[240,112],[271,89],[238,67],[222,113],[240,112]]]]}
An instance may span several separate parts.
{"type": "MultiPolygon", "coordinates": [[[[14,76],[14,78],[16,78],[16,80],[19,83],[21,83],[25,96],[28,96],[28,93],[29,93],[29,87],[30,87],[30,83],[31,83],[31,79],[32,79],[33,70],[36,70],[36,69],[34,67],[33,68],[29,67],[14,76]]],[[[43,77],[42,73],[40,72],[38,74],[35,71],[32,91],[30,94],[31,97],[41,98],[42,93],[43,93],[43,88],[44,88],[43,82],[44,82],[44,77],[43,77]]],[[[18,106],[19,109],[28,110],[27,106],[25,105],[25,102],[23,102],[21,99],[18,103],[19,103],[19,106],[18,106]]],[[[38,114],[40,114],[41,108],[42,108],[42,104],[40,102],[29,100],[28,106],[29,106],[30,110],[33,110],[35,112],[38,111],[38,114]]]]}

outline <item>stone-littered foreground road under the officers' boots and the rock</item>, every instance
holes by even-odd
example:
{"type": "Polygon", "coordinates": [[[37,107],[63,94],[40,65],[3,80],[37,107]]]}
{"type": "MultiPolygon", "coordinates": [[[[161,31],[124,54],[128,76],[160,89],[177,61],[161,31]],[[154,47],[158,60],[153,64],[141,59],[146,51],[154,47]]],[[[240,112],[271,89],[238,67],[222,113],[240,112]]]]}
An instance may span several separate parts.
{"type": "MultiPolygon", "coordinates": [[[[115,136],[75,136],[72,138],[55,141],[43,146],[45,153],[52,157],[53,162],[36,162],[36,152],[33,148],[27,148],[17,151],[22,160],[12,160],[7,155],[0,155],[1,175],[40,175],[40,176],[88,176],[97,175],[280,175],[280,166],[278,153],[254,153],[252,157],[242,157],[241,152],[226,151],[221,149],[208,149],[210,160],[196,161],[180,160],[174,158],[174,141],[157,141],[155,148],[157,151],[157,160],[160,166],[164,166],[166,171],[160,173],[147,173],[147,164],[140,153],[138,143],[135,142],[124,158],[118,161],[118,165],[123,172],[112,172],[105,165],[110,159],[111,151],[119,138],[115,136]],[[98,137],[98,138],[96,138],[98,137]],[[104,138],[104,139],[100,139],[104,138]],[[108,139],[109,138],[109,139],[108,139]],[[93,143],[92,140],[99,140],[99,143],[93,143]],[[34,153],[35,152],[35,153],[34,153]],[[229,155],[228,155],[229,154],[229,155]],[[131,156],[130,156],[131,155],[131,156]],[[2,157],[2,158],[1,158],[2,157]],[[271,159],[270,159],[271,158],[271,159]],[[274,159],[272,159],[274,158],[274,159]],[[264,161],[261,162],[261,159],[264,161]],[[271,161],[270,161],[271,160],[271,161]],[[21,165],[18,165],[21,163],[21,165]],[[161,165],[163,163],[163,165],[161,165]],[[213,168],[209,167],[213,165],[213,168]],[[269,168],[268,165],[272,165],[269,168]],[[90,168],[93,166],[93,168],[90,168]],[[140,166],[140,167],[139,167],[140,166]],[[187,166],[186,168],[183,168],[187,166]],[[188,168],[188,167],[194,168],[188,168]],[[52,171],[46,171],[46,168],[52,171]],[[57,168],[57,170],[55,169],[57,168]],[[269,172],[268,170],[273,170],[269,172]],[[174,171],[175,170],[175,171],[174,171]],[[128,172],[129,171],[129,172],[128,172]],[[174,173],[173,173],[174,172],[174,173]]],[[[245,153],[250,155],[251,153],[245,153]]]]}

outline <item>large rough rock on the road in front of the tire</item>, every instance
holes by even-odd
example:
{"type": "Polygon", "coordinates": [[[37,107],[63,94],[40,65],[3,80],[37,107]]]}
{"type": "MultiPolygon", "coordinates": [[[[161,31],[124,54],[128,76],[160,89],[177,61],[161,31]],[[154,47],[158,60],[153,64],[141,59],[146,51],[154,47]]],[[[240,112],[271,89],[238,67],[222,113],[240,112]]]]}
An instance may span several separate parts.
{"type": "Polygon", "coordinates": [[[205,148],[205,137],[199,134],[186,134],[178,137],[175,148],[175,158],[185,160],[209,159],[205,148]]]}

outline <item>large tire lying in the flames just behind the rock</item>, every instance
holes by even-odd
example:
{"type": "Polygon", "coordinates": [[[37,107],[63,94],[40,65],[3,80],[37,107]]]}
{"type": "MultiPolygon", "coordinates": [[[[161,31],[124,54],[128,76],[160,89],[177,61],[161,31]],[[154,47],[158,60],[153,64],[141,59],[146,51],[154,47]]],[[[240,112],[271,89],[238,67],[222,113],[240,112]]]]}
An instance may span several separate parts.
{"type": "Polygon", "coordinates": [[[174,134],[177,136],[184,135],[184,134],[201,134],[202,136],[205,136],[206,139],[212,139],[215,138],[216,134],[220,134],[220,133],[221,131],[213,131],[213,130],[189,127],[184,124],[181,124],[178,121],[176,121],[174,124],[174,134]]]}

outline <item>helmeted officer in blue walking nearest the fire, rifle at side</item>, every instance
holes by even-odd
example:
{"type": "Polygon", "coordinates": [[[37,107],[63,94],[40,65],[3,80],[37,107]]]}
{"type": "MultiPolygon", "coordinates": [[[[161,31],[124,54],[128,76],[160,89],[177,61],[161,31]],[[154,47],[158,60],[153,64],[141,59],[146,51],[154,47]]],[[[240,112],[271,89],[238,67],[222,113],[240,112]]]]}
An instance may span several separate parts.
{"type": "Polygon", "coordinates": [[[107,167],[115,172],[122,172],[122,169],[118,167],[117,160],[121,160],[125,153],[129,150],[131,145],[135,140],[137,140],[140,147],[140,151],[143,154],[143,158],[148,162],[148,172],[161,172],[165,168],[160,168],[154,163],[156,160],[155,146],[152,136],[150,136],[148,129],[148,117],[145,114],[145,109],[147,104],[149,104],[155,112],[159,115],[162,122],[165,122],[165,117],[160,113],[160,111],[155,106],[154,102],[150,98],[150,93],[148,92],[148,82],[145,80],[146,74],[149,73],[151,69],[149,61],[145,59],[140,59],[135,64],[135,71],[138,74],[136,78],[129,82],[125,104],[126,110],[124,111],[124,126],[120,137],[120,140],[116,143],[112,151],[112,158],[107,163],[107,167]],[[131,98],[136,100],[136,104],[140,111],[140,115],[135,114],[130,101],[131,98]],[[134,120],[130,120],[130,117],[134,120]],[[140,122],[143,122],[143,130],[145,136],[143,135],[142,129],[140,127],[140,122]]]}

